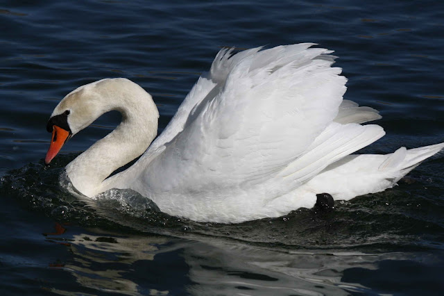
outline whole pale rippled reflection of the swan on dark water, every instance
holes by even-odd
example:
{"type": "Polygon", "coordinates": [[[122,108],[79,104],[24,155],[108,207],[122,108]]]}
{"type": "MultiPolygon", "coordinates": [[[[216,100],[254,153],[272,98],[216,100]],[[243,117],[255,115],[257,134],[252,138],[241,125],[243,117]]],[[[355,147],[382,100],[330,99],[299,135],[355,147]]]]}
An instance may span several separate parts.
{"type": "MultiPolygon", "coordinates": [[[[185,240],[160,236],[115,236],[110,233],[71,236],[72,258],[63,270],[76,278],[77,290],[53,288],[61,295],[121,293],[126,295],[350,295],[384,293],[372,281],[362,285],[362,272],[393,268],[385,279],[396,286],[402,270],[442,261],[440,254],[275,251],[207,238],[185,240]],[[441,258],[441,259],[439,259],[441,258]],[[353,277],[355,271],[359,276],[353,277]],[[347,275],[345,282],[344,274],[347,275]],[[392,279],[393,277],[393,279],[392,279]],[[359,283],[361,282],[361,283],[359,283]],[[379,290],[378,290],[379,289],[379,290]]],[[[427,268],[426,268],[427,270],[427,268]]],[[[364,273],[365,273],[364,272],[364,273]]],[[[419,271],[418,271],[419,272],[419,271]]],[[[422,268],[424,272],[424,268],[422,268]]],[[[374,274],[373,274],[374,275],[374,274]]],[[[395,292],[395,291],[391,291],[395,292]]],[[[398,291],[399,292],[399,291],[398,291]]]]}

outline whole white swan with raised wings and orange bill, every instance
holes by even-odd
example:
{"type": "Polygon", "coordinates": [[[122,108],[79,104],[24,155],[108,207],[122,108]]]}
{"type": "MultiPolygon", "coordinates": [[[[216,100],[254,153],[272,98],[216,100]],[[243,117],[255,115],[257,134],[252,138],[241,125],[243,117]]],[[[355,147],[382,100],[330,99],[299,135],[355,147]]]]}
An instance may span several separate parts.
{"type": "Polygon", "coordinates": [[[385,134],[362,125],[381,116],[343,99],[347,79],[332,67],[336,57],[313,45],[221,49],[157,138],[159,113],[139,85],[117,78],[80,86],[51,114],[45,163],[118,110],[119,126],[65,167],[78,192],[94,199],[128,188],[169,215],[237,223],[312,208],[323,192],[348,200],[386,190],[443,149],[352,154],[385,134]]]}

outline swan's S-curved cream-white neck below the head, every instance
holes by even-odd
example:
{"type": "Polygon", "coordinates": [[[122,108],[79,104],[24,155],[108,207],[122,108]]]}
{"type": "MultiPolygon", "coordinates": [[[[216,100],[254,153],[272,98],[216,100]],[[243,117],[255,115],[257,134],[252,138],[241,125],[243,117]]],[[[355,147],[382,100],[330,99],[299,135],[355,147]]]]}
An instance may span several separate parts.
{"type": "Polygon", "coordinates": [[[103,180],[143,154],[157,134],[159,113],[150,94],[132,82],[107,86],[95,90],[94,104],[101,109],[99,116],[118,110],[121,123],[66,167],[73,186],[88,197],[102,192],[103,180]]]}

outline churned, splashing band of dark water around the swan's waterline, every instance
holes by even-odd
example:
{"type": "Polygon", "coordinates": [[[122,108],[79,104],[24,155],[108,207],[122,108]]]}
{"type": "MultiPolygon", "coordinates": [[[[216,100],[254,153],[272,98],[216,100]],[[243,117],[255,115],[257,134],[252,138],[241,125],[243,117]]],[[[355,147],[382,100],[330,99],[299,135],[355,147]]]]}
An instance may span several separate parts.
{"type": "Polygon", "coordinates": [[[427,196],[442,192],[442,182],[429,181],[424,172],[424,176],[417,174],[406,179],[398,188],[350,202],[336,202],[330,213],[300,208],[279,218],[216,224],[162,213],[155,203],[133,190],[112,189],[97,199],[83,197],[72,188],[63,169],[75,156],[59,156],[51,166],[40,161],[8,172],[0,181],[3,202],[15,199],[21,206],[58,222],[125,233],[211,236],[292,249],[444,249],[444,224],[434,218],[439,216],[436,211],[444,210],[444,202],[421,194],[425,186],[429,190],[427,196]]]}

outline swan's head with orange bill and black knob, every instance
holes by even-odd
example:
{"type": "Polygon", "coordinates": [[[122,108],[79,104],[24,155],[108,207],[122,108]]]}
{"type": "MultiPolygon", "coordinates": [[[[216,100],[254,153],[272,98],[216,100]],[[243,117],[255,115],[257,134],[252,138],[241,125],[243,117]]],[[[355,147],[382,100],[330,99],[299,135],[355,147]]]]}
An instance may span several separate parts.
{"type": "Polygon", "coordinates": [[[46,165],[69,138],[92,124],[103,113],[112,110],[113,106],[107,98],[115,92],[116,87],[124,83],[132,82],[128,79],[103,79],[80,86],[60,101],[46,125],[46,130],[52,133],[46,165]]]}

